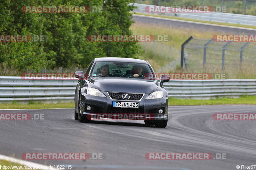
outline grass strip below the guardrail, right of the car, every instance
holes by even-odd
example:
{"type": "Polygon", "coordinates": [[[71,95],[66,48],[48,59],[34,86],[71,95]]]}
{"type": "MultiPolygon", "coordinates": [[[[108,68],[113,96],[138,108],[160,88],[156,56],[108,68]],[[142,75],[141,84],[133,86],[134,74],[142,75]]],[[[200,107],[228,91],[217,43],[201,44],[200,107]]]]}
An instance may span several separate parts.
{"type": "Polygon", "coordinates": [[[241,96],[240,98],[221,98],[210,100],[194,100],[194,99],[175,99],[169,98],[169,106],[185,106],[185,105],[235,105],[249,104],[256,105],[256,96],[241,96]]]}

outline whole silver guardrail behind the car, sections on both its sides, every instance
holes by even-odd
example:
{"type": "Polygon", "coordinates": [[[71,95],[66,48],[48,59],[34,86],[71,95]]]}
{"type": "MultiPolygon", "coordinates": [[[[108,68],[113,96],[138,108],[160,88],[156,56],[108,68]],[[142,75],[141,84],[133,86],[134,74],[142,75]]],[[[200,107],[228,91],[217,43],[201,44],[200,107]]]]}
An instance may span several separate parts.
{"type": "MultiPolygon", "coordinates": [[[[0,102],[73,102],[77,79],[24,80],[0,76],[0,102]]],[[[170,97],[210,99],[217,96],[256,95],[256,79],[170,80],[164,83],[170,97]]]]}

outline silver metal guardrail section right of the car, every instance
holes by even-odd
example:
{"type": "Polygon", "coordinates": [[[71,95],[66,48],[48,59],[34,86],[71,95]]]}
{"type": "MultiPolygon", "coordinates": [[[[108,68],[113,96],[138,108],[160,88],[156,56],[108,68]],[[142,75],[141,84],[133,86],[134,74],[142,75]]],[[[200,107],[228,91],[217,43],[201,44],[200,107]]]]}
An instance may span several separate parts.
{"type": "Polygon", "coordinates": [[[164,83],[164,88],[169,97],[180,99],[238,98],[256,95],[256,79],[171,80],[164,83]]]}

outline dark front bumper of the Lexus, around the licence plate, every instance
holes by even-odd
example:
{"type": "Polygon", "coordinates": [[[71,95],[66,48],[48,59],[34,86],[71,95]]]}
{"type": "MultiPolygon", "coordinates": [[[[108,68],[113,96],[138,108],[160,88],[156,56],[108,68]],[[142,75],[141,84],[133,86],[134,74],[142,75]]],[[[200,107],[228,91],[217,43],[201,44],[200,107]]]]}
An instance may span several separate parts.
{"type": "MultiPolygon", "coordinates": [[[[107,98],[92,96],[86,93],[80,93],[81,98],[81,116],[94,115],[94,114],[129,114],[134,115],[133,120],[167,120],[168,119],[168,97],[163,97],[160,99],[149,99],[145,98],[150,94],[146,93],[141,101],[130,101],[130,100],[112,100],[108,96],[107,92],[102,92],[107,98]],[[113,107],[113,101],[129,101],[129,102],[139,102],[139,108],[121,108],[113,107]],[[87,110],[86,107],[90,106],[91,110],[87,110]],[[158,113],[158,110],[162,109],[163,113],[158,113]],[[139,114],[139,115],[138,115],[139,114]],[[143,115],[144,114],[144,115],[143,115]],[[143,115],[143,116],[142,116],[143,115]],[[138,119],[136,119],[136,117],[138,119]]],[[[120,118],[120,117],[119,117],[120,118]]],[[[116,117],[115,117],[116,119],[116,117]]]]}

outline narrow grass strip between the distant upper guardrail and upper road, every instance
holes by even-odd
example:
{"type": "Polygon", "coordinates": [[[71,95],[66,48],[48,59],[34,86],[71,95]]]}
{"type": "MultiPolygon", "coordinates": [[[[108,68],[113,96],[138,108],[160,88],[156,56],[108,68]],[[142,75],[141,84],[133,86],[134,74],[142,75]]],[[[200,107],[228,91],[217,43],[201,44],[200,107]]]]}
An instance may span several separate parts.
{"type": "Polygon", "coordinates": [[[204,20],[189,19],[189,18],[180,18],[180,17],[172,17],[172,16],[164,16],[164,15],[146,14],[146,13],[139,13],[139,12],[136,12],[136,14],[145,15],[145,16],[153,16],[153,17],[161,17],[161,18],[179,19],[179,20],[183,20],[183,21],[193,21],[193,22],[201,22],[201,23],[208,23],[208,24],[217,24],[217,25],[224,25],[224,26],[237,26],[237,27],[243,27],[243,28],[256,29],[256,26],[248,26],[248,25],[240,25],[240,24],[229,24],[229,23],[223,23],[223,22],[212,22],[212,21],[204,21],[204,20]]]}

